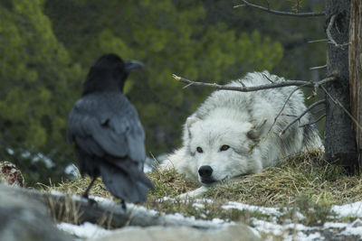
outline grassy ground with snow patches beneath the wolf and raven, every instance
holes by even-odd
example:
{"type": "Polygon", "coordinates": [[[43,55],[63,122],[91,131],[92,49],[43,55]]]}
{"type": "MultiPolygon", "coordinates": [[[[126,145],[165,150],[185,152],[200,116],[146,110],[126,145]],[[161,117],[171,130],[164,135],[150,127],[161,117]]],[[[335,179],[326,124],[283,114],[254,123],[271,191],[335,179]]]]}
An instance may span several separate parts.
{"type": "MultiPolygon", "coordinates": [[[[177,199],[197,185],[174,170],[153,171],[148,176],[156,190],[148,194],[144,206],[160,213],[244,223],[268,240],[362,240],[360,176],[348,176],[343,169],[325,162],[323,153],[293,156],[262,173],[220,183],[203,199],[177,199]]],[[[63,182],[47,190],[81,194],[89,181],[63,182]]],[[[113,199],[100,180],[90,194],[113,199]]],[[[73,228],[66,224],[60,227],[68,231],[73,228]]],[[[90,224],[83,227],[96,228],[100,235],[107,233],[90,224]]]]}

